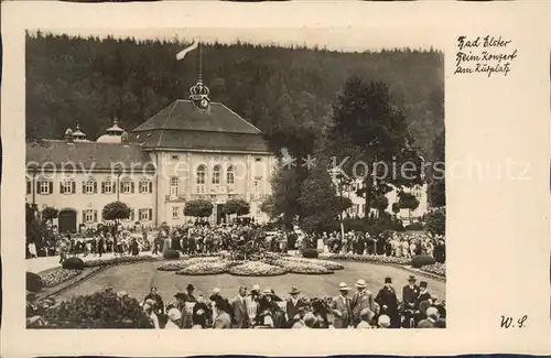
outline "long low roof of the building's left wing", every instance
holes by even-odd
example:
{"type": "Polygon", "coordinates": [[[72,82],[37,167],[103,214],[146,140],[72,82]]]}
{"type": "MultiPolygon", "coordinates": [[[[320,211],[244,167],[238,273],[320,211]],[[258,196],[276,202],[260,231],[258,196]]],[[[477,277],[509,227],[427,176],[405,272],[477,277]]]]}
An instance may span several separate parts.
{"type": "MultiPolygon", "coordinates": [[[[98,142],[75,142],[44,140],[41,143],[26,144],[26,162],[39,164],[53,163],[56,167],[76,165],[76,170],[111,170],[121,163],[126,169],[140,169],[150,162],[148,153],[138,144],[115,144],[98,142]]],[[[52,167],[52,164],[48,164],[52,167]]],[[[147,167],[153,170],[151,164],[147,167]]]]}

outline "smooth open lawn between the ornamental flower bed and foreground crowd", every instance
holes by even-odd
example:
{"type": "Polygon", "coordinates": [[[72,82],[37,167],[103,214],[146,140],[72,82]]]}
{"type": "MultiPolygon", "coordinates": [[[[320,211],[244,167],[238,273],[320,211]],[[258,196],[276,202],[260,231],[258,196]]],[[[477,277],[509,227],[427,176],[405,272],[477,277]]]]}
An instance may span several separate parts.
{"type": "MultiPolygon", "coordinates": [[[[393,286],[401,295],[401,288],[407,284],[411,274],[400,268],[391,265],[374,264],[368,262],[342,262],[344,270],[335,271],[327,275],[304,275],[287,274],[271,278],[244,278],[229,274],[208,276],[184,276],[174,272],[159,271],[156,267],[162,262],[140,262],[107,268],[96,275],[61,293],[61,300],[69,299],[74,295],[89,294],[106,288],[116,291],[126,291],[132,297],[142,300],[149,292],[149,288],[154,285],[164,301],[169,301],[176,292],[183,292],[187,284],[193,284],[196,294],[208,294],[213,288],[220,288],[225,296],[234,296],[238,292],[239,285],[248,288],[253,284],[273,288],[282,297],[287,297],[287,292],[292,285],[296,285],[306,296],[334,296],[338,294],[338,283],[346,282],[353,286],[357,279],[364,279],[367,289],[376,293],[385,281],[386,276],[391,276],[393,286]]],[[[429,291],[445,299],[445,282],[418,274],[418,281],[424,280],[429,283],[429,291]]],[[[401,297],[399,297],[401,300],[401,297]]]]}

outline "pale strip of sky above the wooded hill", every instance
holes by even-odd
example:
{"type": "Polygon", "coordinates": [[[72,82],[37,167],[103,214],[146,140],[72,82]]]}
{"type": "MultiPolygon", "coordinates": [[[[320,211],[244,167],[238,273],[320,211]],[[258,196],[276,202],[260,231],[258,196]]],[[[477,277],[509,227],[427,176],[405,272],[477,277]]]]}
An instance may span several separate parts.
{"type": "MultiPolygon", "coordinates": [[[[364,52],[382,48],[430,47],[443,48],[433,29],[393,28],[327,28],[327,29],[140,29],[140,30],[43,30],[54,34],[94,35],[105,37],[131,37],[137,40],[177,39],[190,43],[194,39],[202,42],[235,43],[237,40],[253,44],[306,45],[326,47],[331,51],[364,52]]],[[[32,32],[32,31],[31,31],[32,32]]]]}

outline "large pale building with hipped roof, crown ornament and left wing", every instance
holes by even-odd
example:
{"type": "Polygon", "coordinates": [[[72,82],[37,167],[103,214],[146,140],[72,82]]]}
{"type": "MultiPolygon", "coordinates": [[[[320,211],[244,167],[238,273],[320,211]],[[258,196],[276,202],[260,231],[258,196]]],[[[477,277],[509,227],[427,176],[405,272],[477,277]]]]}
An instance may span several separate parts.
{"type": "Polygon", "coordinates": [[[226,219],[222,205],[230,198],[250,203],[257,223],[271,193],[276,158],[260,130],[219,102],[210,102],[199,79],[190,99],[176,99],[131,133],[117,121],[97,141],[77,127],[65,140],[26,147],[26,202],[39,210],[60,210],[60,231],[102,221],[101,210],[120,200],[131,209],[128,224],[187,223],[185,203],[207,199],[213,223],[226,219]]]}

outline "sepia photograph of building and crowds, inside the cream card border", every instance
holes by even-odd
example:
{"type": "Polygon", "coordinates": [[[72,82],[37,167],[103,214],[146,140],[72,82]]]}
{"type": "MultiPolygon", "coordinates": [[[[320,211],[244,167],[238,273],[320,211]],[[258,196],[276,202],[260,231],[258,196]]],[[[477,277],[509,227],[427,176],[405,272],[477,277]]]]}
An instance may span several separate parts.
{"type": "Polygon", "coordinates": [[[445,328],[444,52],[358,32],[28,29],[26,327],[445,328]]]}

